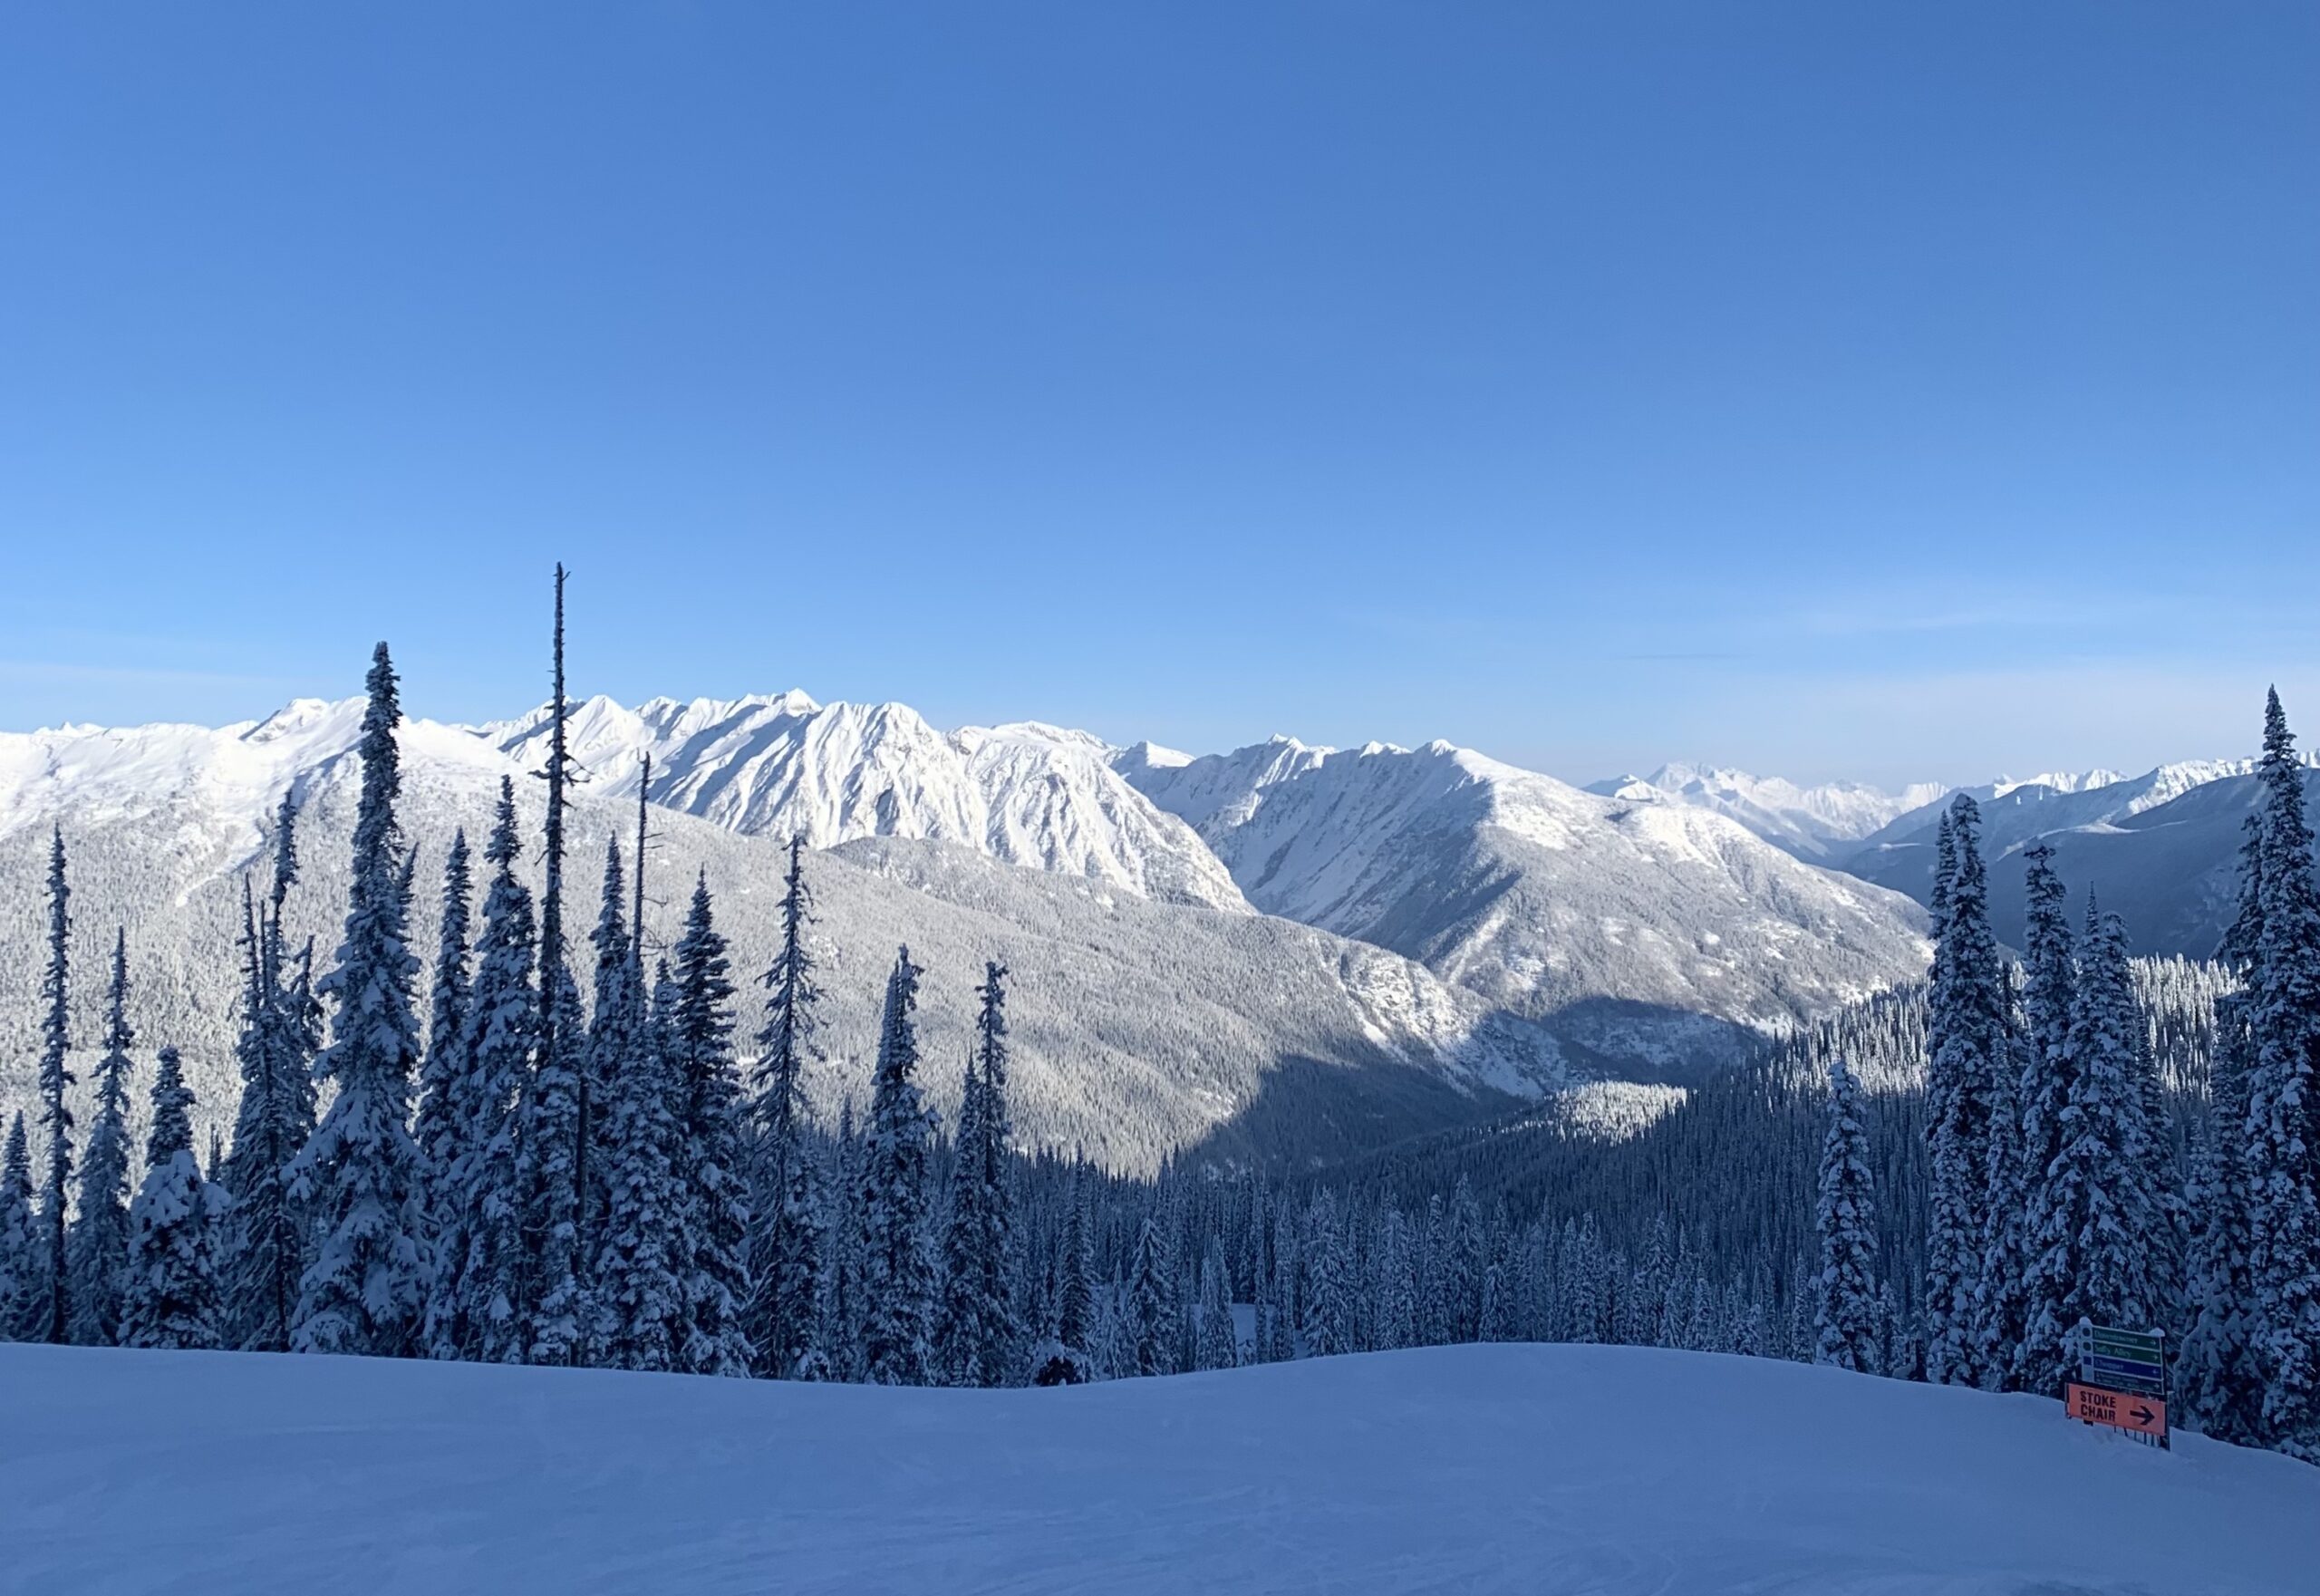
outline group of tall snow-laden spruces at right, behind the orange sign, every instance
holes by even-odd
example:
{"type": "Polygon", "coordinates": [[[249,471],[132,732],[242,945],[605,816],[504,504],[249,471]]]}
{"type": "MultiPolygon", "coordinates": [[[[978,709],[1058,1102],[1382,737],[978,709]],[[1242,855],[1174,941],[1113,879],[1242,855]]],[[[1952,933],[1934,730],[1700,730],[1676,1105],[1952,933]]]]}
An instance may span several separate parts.
{"type": "Polygon", "coordinates": [[[1826,1362],[2058,1394],[2083,1327],[2158,1329],[2199,1429],[2320,1457],[2320,891],[2301,777],[2274,694],[2220,951],[2230,986],[2158,1023],[2123,923],[2090,886],[2074,933],[2046,847],[2028,851],[2021,963],[2000,956],[1979,812],[1958,796],[1933,893],[1923,1239],[1879,1246],[1870,1139],[1835,1060],[1817,1185],[1826,1362]],[[1861,1334],[1895,1271],[1916,1287],[1900,1362],[1861,1334]]]}

